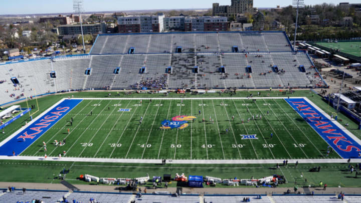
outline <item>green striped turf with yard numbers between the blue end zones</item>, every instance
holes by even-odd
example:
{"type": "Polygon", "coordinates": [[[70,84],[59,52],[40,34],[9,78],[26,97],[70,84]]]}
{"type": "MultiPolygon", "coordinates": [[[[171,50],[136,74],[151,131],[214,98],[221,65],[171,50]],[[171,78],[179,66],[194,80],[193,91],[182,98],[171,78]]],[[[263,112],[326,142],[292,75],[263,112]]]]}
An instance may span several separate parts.
{"type": "Polygon", "coordinates": [[[151,102],[143,99],[141,104],[140,99],[87,99],[21,155],[58,156],[66,151],[70,157],[95,158],[340,158],[335,152],[326,157],[327,146],[283,99],[258,99],[254,103],[241,99],[198,98],[182,102],[180,98],[153,98],[151,102]],[[130,111],[119,111],[120,108],[130,111]],[[197,118],[188,121],[189,126],[184,129],[160,129],[163,120],[179,115],[197,118]],[[256,119],[257,115],[262,115],[262,119],[256,119]],[[253,134],[257,139],[241,136],[253,134]],[[63,139],[65,145],[53,144],[54,140],[63,139]]]}

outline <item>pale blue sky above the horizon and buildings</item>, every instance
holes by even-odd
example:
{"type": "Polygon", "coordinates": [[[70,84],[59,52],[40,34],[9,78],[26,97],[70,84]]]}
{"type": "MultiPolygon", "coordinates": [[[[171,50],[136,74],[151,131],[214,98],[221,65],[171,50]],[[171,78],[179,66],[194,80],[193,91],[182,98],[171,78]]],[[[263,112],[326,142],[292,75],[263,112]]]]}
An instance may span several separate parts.
{"type": "MultiPolygon", "coordinates": [[[[9,14],[49,14],[73,12],[72,0],[0,0],[0,15],[9,14]]],[[[315,5],[327,2],[359,3],[359,0],[304,0],[305,5],[315,5]]],[[[127,11],[127,10],[155,10],[155,9],[206,9],[212,8],[213,3],[231,5],[231,0],[84,0],[85,12],[96,11],[127,11]]],[[[257,8],[275,8],[277,5],[285,7],[292,4],[292,0],[254,0],[257,8]]]]}

